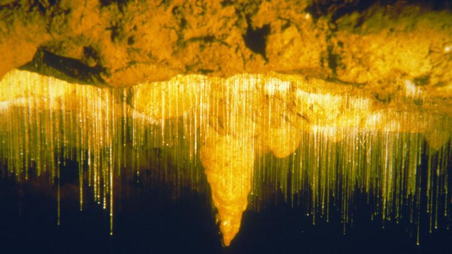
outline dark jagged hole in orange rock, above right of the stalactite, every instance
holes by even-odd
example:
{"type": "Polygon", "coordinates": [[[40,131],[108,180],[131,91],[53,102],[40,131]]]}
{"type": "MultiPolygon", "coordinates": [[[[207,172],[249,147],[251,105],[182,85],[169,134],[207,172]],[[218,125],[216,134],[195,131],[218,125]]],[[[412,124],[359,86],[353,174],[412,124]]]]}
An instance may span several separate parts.
{"type": "Polygon", "coordinates": [[[265,61],[268,61],[266,54],[267,36],[270,33],[270,24],[253,29],[248,22],[247,33],[243,35],[245,45],[254,53],[260,54],[265,61]]]}

